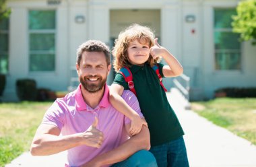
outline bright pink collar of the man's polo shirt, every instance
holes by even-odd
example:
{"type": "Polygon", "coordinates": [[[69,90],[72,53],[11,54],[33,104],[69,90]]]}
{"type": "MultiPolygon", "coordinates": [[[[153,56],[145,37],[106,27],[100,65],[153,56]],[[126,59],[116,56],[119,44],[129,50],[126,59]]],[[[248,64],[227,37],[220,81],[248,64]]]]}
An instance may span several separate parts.
{"type": "MultiPolygon", "coordinates": [[[[77,110],[79,110],[79,111],[87,110],[87,104],[86,104],[86,102],[84,102],[81,87],[82,87],[82,85],[79,84],[79,86],[75,92],[75,106],[76,106],[77,110]]],[[[100,103],[98,104],[98,107],[104,107],[104,108],[108,107],[108,105],[110,104],[110,102],[108,100],[108,95],[109,95],[109,88],[105,84],[104,94],[102,96],[102,99],[100,100],[100,103]]]]}

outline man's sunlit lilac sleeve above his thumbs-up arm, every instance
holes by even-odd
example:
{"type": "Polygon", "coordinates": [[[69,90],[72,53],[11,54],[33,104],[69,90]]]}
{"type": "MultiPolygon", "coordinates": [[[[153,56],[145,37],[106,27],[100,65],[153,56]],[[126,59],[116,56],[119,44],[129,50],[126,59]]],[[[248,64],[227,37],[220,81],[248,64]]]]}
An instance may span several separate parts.
{"type": "Polygon", "coordinates": [[[64,125],[65,111],[57,104],[57,101],[45,112],[42,124],[54,125],[60,130],[64,125]]]}

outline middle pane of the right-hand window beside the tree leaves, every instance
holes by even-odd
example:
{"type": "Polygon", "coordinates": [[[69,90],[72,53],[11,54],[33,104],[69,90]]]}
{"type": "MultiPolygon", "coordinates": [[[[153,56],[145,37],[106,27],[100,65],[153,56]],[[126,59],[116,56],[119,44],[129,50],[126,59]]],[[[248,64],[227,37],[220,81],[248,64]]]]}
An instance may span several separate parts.
{"type": "Polygon", "coordinates": [[[216,49],[240,49],[238,41],[239,34],[232,32],[214,32],[214,43],[216,49]]]}

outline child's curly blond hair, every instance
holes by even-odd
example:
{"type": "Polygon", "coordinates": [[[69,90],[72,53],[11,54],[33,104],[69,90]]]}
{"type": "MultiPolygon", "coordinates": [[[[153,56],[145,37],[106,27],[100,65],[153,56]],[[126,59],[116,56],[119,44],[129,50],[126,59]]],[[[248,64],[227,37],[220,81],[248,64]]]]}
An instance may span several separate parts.
{"type": "MultiPolygon", "coordinates": [[[[154,33],[150,28],[140,26],[139,24],[132,24],[124,31],[120,32],[118,39],[115,40],[115,46],[112,51],[115,58],[113,63],[115,71],[119,71],[122,67],[131,67],[127,54],[127,49],[130,42],[138,40],[139,42],[145,43],[146,41],[151,48],[155,44],[154,38],[154,33]]],[[[147,62],[152,67],[159,61],[160,58],[153,59],[150,56],[147,62]]]]}

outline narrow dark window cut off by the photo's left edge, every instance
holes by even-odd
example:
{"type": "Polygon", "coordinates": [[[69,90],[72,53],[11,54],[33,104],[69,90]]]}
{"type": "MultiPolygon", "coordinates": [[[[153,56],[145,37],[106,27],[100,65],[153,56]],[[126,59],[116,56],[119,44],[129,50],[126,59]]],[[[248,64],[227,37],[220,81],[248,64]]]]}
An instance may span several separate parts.
{"type": "Polygon", "coordinates": [[[8,72],[9,57],[9,20],[3,19],[0,22],[0,73],[8,72]]]}

